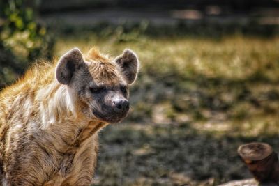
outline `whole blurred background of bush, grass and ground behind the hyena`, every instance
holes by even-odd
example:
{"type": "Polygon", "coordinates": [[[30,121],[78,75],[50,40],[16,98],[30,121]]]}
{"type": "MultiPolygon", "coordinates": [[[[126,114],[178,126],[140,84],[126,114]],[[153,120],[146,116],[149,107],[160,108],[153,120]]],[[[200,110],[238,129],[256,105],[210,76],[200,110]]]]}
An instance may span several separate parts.
{"type": "Polygon", "coordinates": [[[1,0],[0,88],[40,59],[96,46],[141,61],[133,109],[100,132],[96,185],[249,178],[236,153],[279,152],[279,1],[1,0]]]}

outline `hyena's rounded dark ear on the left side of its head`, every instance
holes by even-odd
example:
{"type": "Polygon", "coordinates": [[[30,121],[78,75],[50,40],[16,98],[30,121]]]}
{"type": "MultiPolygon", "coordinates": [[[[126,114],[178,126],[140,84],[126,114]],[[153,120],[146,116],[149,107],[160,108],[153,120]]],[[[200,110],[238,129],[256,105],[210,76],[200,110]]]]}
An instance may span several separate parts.
{"type": "Polygon", "coordinates": [[[80,49],[74,48],[61,56],[56,65],[56,79],[61,84],[69,84],[78,65],[84,63],[80,49]]]}

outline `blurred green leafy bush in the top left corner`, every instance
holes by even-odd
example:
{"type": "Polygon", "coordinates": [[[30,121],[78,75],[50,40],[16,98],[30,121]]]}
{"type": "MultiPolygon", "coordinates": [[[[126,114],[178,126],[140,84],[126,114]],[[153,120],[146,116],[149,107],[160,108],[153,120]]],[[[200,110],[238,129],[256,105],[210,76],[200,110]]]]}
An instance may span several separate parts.
{"type": "Polygon", "coordinates": [[[33,1],[1,1],[0,88],[13,82],[38,57],[50,58],[54,45],[47,29],[36,23],[33,1]]]}

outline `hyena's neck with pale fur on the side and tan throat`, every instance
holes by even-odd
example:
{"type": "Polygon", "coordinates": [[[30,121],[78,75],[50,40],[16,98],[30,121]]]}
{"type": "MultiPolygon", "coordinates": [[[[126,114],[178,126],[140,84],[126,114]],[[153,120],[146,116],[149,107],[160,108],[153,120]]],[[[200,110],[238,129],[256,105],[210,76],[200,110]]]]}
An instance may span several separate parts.
{"type": "Polygon", "coordinates": [[[86,139],[107,125],[100,121],[90,121],[79,114],[67,87],[58,82],[54,81],[39,90],[37,98],[42,121],[40,127],[56,138],[56,149],[64,153],[74,153],[86,139]]]}

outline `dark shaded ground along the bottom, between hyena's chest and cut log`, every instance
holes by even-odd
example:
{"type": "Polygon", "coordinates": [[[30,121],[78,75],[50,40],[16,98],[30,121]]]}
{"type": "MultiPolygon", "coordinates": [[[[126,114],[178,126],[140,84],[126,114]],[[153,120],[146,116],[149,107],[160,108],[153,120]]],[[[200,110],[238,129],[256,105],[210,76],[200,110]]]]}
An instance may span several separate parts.
{"type": "MultiPolygon", "coordinates": [[[[261,141],[278,146],[277,138],[261,141]]],[[[259,141],[202,132],[191,123],[111,125],[100,139],[97,185],[216,185],[248,178],[236,149],[259,141]]]]}

